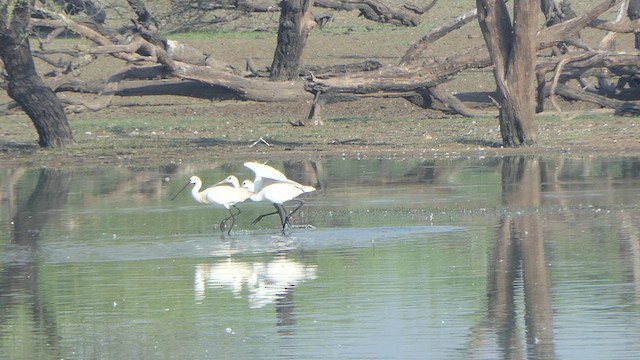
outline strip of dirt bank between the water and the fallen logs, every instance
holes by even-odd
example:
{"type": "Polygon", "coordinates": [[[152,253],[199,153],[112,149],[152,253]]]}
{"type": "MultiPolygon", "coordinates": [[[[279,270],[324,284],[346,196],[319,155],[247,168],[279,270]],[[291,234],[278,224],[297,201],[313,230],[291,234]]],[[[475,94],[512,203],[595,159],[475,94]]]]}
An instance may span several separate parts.
{"type": "MultiPolygon", "coordinates": [[[[199,112],[211,113],[212,120],[175,127],[149,125],[154,120],[154,111],[150,110],[168,111],[168,105],[110,110],[111,116],[117,116],[120,111],[136,111],[137,120],[125,129],[83,127],[75,131],[75,146],[51,150],[34,145],[36,139],[31,133],[35,131],[27,129],[30,124],[26,117],[3,117],[0,119],[0,161],[5,166],[146,166],[275,158],[640,156],[640,125],[638,119],[631,117],[572,113],[542,116],[538,119],[536,146],[505,149],[499,145],[500,132],[495,118],[447,117],[418,109],[404,100],[368,99],[327,107],[325,124],[321,126],[288,124],[300,117],[300,109],[308,106],[192,102],[175,107],[172,113],[183,119],[199,112]],[[7,124],[16,118],[20,122],[7,124]],[[209,123],[215,125],[209,127],[209,123]],[[20,129],[11,130],[16,124],[20,129]],[[27,130],[31,141],[19,136],[27,130]],[[8,140],[12,137],[20,140],[8,140]]],[[[72,117],[72,126],[87,121],[87,116],[90,115],[72,117]]]]}

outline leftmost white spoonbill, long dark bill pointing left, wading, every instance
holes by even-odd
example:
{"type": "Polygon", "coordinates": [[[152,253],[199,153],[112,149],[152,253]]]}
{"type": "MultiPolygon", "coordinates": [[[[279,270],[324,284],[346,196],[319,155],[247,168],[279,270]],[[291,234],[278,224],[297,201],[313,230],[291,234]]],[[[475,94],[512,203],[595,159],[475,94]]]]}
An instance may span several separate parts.
{"type": "Polygon", "coordinates": [[[231,226],[229,227],[229,231],[227,232],[228,235],[231,235],[231,229],[233,229],[233,226],[236,224],[236,216],[241,212],[240,209],[236,207],[236,204],[247,200],[251,195],[253,195],[252,191],[241,188],[239,187],[239,185],[234,187],[233,180],[235,180],[235,184],[238,184],[238,179],[235,176],[231,175],[221,182],[200,191],[200,188],[202,188],[202,180],[200,180],[200,178],[197,176],[192,176],[189,179],[189,182],[182,189],[180,189],[180,191],[178,191],[178,193],[171,200],[175,199],[182,191],[184,191],[184,189],[187,188],[187,186],[189,186],[189,184],[192,184],[193,189],[191,189],[191,197],[193,197],[193,200],[199,202],[200,204],[218,204],[229,211],[229,217],[223,219],[220,222],[220,231],[224,231],[227,221],[231,219],[231,226]],[[229,182],[232,186],[221,185],[227,182],[229,182]],[[237,212],[234,214],[231,208],[236,209],[237,212]]]}

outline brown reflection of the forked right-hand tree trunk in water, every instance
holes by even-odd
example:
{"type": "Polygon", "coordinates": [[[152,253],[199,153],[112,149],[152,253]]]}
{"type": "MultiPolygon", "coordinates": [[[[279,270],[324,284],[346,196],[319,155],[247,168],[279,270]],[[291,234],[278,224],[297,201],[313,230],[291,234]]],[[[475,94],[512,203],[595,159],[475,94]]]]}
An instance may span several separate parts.
{"type": "Polygon", "coordinates": [[[554,358],[551,282],[544,251],[541,171],[536,157],[506,157],[502,202],[489,267],[488,320],[505,358],[554,358]],[[521,343],[517,298],[524,300],[526,345],[521,343]]]}

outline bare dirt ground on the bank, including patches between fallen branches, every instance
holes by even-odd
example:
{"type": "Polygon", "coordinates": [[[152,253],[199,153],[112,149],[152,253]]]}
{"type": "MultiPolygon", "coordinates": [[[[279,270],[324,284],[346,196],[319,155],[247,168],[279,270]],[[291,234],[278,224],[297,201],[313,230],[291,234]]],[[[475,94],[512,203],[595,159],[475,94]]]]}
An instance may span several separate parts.
{"type": "MultiPolygon", "coordinates": [[[[465,9],[453,10],[462,13],[465,9]]],[[[411,43],[449,18],[434,15],[431,23],[419,28],[391,30],[382,25],[352,27],[349,24],[353,19],[336,20],[328,30],[312,33],[305,63],[327,65],[373,59],[394,64],[411,43]]],[[[446,56],[455,50],[453,44],[457,48],[460,41],[481,41],[477,26],[475,29],[443,39],[432,54],[446,56]]],[[[267,66],[275,34],[182,41],[238,67],[243,66],[248,54],[257,66],[267,66]]],[[[108,71],[102,66],[96,74],[104,78],[108,71]]],[[[460,74],[445,87],[461,98],[471,96],[491,106],[489,69],[460,74]]],[[[0,102],[6,100],[2,96],[0,102]]],[[[125,97],[114,99],[105,110],[70,113],[77,144],[65,149],[38,149],[35,129],[24,114],[0,116],[0,162],[4,166],[144,166],[270,158],[640,156],[640,122],[636,117],[617,117],[610,110],[588,104],[560,105],[561,113],[548,110],[538,116],[536,146],[503,149],[496,117],[462,118],[421,109],[404,99],[368,98],[326,105],[322,109],[324,125],[294,127],[289,122],[306,118],[309,101],[275,104],[125,97]]]]}

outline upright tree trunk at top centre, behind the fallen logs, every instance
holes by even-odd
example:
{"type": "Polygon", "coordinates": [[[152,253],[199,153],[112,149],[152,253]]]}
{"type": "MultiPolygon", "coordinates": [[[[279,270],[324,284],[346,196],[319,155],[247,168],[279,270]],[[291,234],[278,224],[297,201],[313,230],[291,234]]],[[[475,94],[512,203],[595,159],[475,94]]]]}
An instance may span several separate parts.
{"type": "Polygon", "coordinates": [[[315,25],[312,7],[313,0],[283,0],[280,3],[278,45],[271,64],[271,80],[285,81],[298,77],[302,51],[315,25]]]}

